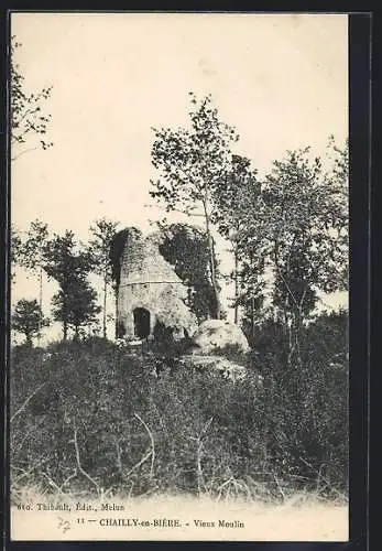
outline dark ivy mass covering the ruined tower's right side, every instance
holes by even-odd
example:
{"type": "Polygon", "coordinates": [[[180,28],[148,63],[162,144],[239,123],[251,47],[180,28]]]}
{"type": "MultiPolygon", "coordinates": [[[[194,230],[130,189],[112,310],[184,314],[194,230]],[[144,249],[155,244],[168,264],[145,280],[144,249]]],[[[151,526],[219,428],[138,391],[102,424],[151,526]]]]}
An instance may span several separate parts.
{"type": "Polygon", "coordinates": [[[216,311],[214,288],[208,277],[209,251],[206,233],[189,224],[161,225],[160,228],[160,252],[187,285],[187,305],[200,323],[216,311]]]}

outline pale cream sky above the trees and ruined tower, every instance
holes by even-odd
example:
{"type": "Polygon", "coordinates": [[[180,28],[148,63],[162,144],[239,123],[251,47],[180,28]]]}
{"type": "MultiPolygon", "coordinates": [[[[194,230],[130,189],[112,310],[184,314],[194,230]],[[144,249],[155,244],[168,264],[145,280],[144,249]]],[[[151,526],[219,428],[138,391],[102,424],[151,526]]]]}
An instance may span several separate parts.
{"type": "MultiPolygon", "coordinates": [[[[41,218],[87,239],[105,216],[150,230],[163,216],[145,206],[152,128],[187,125],[189,91],[211,94],[260,173],[288,149],[321,154],[329,134],[348,134],[343,14],[12,13],[11,33],[25,87],[53,86],[54,147],[11,166],[21,229],[41,218]]],[[[21,274],[13,299],[33,284],[21,274]]]]}

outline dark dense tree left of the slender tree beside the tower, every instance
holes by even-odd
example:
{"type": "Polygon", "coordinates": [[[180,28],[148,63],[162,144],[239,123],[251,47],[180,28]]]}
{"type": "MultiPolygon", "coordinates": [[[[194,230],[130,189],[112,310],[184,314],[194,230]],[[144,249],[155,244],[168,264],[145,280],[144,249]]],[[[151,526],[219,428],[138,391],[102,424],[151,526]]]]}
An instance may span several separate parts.
{"type": "Polygon", "coordinates": [[[55,320],[63,322],[64,341],[67,339],[70,325],[79,327],[86,324],[87,316],[91,317],[95,313],[94,295],[86,282],[92,266],[90,252],[75,241],[73,231],[67,230],[63,237],[54,236],[46,247],[44,270],[59,285],[52,303],[55,320]],[[84,310],[83,317],[78,313],[76,301],[84,310]]]}

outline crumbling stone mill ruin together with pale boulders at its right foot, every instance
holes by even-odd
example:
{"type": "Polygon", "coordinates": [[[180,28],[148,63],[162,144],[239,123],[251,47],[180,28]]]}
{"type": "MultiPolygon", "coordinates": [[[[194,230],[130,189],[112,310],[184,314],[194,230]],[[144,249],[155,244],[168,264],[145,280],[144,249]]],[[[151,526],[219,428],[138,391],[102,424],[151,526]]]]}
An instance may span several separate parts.
{"type": "Polygon", "coordinates": [[[160,252],[159,235],[144,236],[138,228],[119,231],[111,245],[117,290],[117,342],[179,341],[190,337],[188,353],[179,361],[194,369],[218,370],[232,381],[247,368],[219,355],[233,347],[245,355],[248,341],[241,328],[223,320],[206,320],[199,326],[186,305],[187,287],[160,252]]]}

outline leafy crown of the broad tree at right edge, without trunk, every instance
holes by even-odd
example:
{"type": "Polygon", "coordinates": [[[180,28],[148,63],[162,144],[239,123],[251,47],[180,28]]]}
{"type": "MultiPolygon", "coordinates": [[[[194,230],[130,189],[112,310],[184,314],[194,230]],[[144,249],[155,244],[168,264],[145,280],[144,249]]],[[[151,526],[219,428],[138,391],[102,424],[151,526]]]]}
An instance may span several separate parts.
{"type": "MultiPolygon", "coordinates": [[[[309,161],[308,152],[308,149],[288,152],[285,160],[274,163],[273,172],[266,176],[264,217],[273,213],[266,229],[277,274],[285,280],[282,271],[288,277],[292,257],[304,251],[308,258],[305,289],[315,285],[332,292],[347,284],[343,280],[348,252],[346,180],[340,182],[326,174],[321,160],[309,161]]],[[[293,293],[288,294],[290,302],[301,303],[293,293]]]]}

